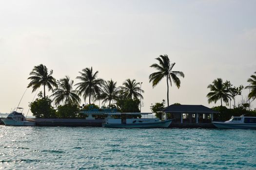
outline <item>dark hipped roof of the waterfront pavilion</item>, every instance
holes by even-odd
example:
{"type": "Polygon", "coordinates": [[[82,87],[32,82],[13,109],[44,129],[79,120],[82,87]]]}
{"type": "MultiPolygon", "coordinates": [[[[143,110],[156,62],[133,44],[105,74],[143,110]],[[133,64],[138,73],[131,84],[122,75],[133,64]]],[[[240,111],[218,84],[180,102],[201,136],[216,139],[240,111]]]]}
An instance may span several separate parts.
{"type": "Polygon", "coordinates": [[[203,105],[172,104],[162,110],[169,113],[219,113],[203,105]]]}

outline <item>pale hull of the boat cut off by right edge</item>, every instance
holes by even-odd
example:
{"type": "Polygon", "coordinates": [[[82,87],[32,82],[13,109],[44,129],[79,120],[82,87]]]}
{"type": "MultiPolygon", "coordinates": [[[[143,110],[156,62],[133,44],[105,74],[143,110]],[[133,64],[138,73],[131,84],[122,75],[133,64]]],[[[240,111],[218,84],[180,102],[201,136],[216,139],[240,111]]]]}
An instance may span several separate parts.
{"type": "Polygon", "coordinates": [[[256,129],[256,123],[225,123],[214,121],[212,123],[220,129],[256,129]]]}

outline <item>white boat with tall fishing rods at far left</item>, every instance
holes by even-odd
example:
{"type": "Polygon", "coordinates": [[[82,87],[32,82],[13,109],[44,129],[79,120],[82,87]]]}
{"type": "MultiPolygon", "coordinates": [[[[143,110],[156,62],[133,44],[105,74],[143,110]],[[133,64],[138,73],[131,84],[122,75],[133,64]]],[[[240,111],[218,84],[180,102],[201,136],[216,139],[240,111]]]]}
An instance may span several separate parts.
{"type": "Polygon", "coordinates": [[[22,109],[21,107],[16,108],[16,111],[13,111],[7,116],[7,119],[2,119],[3,123],[6,126],[36,126],[36,122],[27,121],[24,115],[21,112],[17,112],[17,109],[22,109]]]}

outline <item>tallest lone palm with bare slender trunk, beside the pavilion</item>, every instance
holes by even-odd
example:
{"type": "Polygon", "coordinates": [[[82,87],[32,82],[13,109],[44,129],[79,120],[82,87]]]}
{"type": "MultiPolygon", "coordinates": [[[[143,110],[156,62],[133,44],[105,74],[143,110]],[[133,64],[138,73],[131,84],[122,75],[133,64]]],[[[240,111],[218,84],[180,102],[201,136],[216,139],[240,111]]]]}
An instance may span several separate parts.
{"type": "Polygon", "coordinates": [[[167,83],[167,104],[169,106],[169,84],[172,86],[172,81],[173,83],[179,88],[180,87],[180,80],[179,76],[184,78],[184,74],[181,71],[173,71],[173,67],[175,63],[170,63],[170,60],[168,58],[168,55],[160,55],[158,58],[158,64],[153,64],[150,67],[151,68],[156,68],[158,71],[154,72],[149,75],[149,82],[152,82],[153,88],[158,85],[158,83],[166,77],[166,83],[167,83]]]}

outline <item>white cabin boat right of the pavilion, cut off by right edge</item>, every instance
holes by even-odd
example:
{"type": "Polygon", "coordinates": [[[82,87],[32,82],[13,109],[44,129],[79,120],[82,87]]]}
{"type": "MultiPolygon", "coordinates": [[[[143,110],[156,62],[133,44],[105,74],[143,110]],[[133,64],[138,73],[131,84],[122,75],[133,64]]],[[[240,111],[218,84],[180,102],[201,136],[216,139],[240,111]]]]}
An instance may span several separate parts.
{"type": "Polygon", "coordinates": [[[225,122],[212,122],[217,128],[222,129],[256,129],[256,117],[231,117],[225,122]]]}

